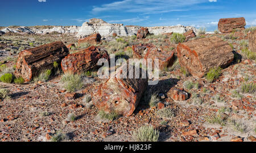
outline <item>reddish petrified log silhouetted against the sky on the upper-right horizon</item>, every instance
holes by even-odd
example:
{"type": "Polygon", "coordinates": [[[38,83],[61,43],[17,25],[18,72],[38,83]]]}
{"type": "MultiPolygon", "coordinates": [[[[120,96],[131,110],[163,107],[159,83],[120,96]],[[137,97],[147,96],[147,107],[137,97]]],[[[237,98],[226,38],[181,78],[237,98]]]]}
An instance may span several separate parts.
{"type": "Polygon", "coordinates": [[[245,18],[226,18],[220,19],[218,22],[218,31],[222,33],[229,33],[233,30],[244,30],[245,29],[245,18]]]}

